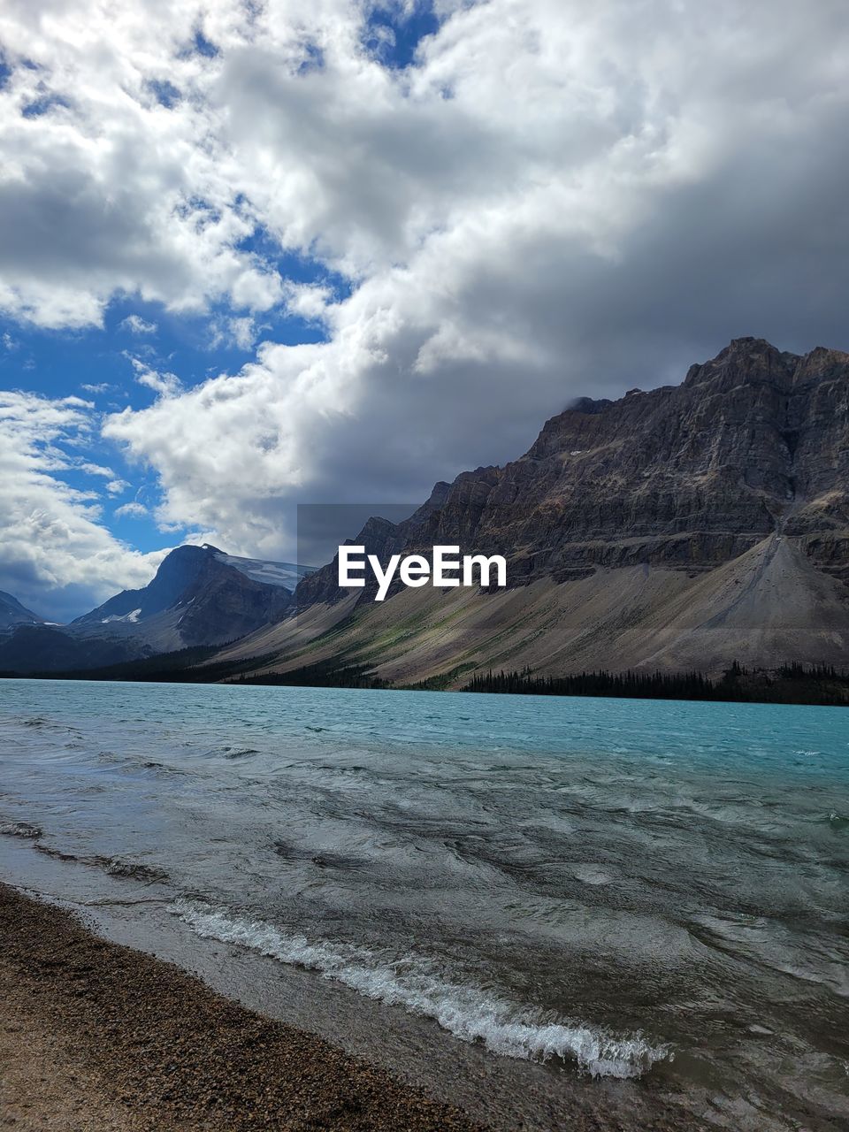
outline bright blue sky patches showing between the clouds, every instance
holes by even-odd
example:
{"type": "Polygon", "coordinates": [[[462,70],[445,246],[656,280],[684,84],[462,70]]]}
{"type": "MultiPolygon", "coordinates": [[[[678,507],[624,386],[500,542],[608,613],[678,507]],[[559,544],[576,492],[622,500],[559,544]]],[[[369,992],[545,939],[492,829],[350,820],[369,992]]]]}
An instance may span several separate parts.
{"type": "MultiPolygon", "coordinates": [[[[378,6],[368,14],[362,27],[366,49],[381,65],[396,70],[414,65],[420,41],[437,31],[439,20],[429,0],[410,7],[395,3],[378,6]]],[[[206,58],[217,53],[215,44],[197,29],[192,48],[206,58]]],[[[309,55],[309,67],[323,66],[319,52],[309,55]]],[[[12,68],[0,54],[0,86],[12,68]]],[[[168,80],[152,84],[165,106],[179,100],[179,92],[168,80]]],[[[49,112],[54,98],[27,104],[28,117],[49,112]]],[[[65,100],[60,100],[65,101],[65,100]]],[[[352,283],[309,251],[288,251],[261,225],[238,242],[238,248],[261,260],[264,269],[284,281],[327,288],[335,300],[350,295],[352,283]]],[[[280,344],[317,343],[327,338],[319,321],[299,317],[283,305],[263,311],[254,321],[249,340],[237,341],[228,323],[246,311],[228,302],[209,303],[197,314],[170,311],[162,302],[145,302],[137,294],[110,299],[101,326],[79,329],[42,329],[26,320],[0,315],[0,387],[24,389],[50,398],[79,396],[94,404],[98,414],[142,410],[157,394],[137,380],[134,360],[157,372],[177,376],[183,389],[201,385],[221,374],[238,374],[255,357],[256,342],[271,338],[280,344]]],[[[69,455],[86,463],[109,468],[114,480],[126,484],[102,495],[102,523],[128,544],[146,552],[173,544],[191,535],[197,524],[169,526],[154,517],[158,483],[154,469],[128,460],[121,445],[92,432],[84,448],[76,443],[61,445],[69,455]],[[127,504],[139,503],[146,514],[121,514],[127,504]]],[[[97,487],[97,477],[85,470],[68,469],[62,479],[82,491],[97,487]]],[[[105,477],[100,477],[105,480],[105,477]]]]}

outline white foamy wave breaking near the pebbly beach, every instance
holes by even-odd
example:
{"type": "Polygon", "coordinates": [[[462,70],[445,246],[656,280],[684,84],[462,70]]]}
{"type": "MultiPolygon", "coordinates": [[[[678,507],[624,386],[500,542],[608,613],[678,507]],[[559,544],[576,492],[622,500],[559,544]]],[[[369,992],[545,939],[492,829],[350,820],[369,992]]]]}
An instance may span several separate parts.
{"type": "Polygon", "coordinates": [[[178,900],[169,909],[197,935],[238,944],[325,978],[387,1005],[432,1018],[463,1041],[482,1041],[507,1057],[561,1057],[593,1077],[640,1077],[669,1055],[640,1034],[620,1037],[583,1023],[544,1022],[480,987],[444,979],[421,957],[387,960],[367,947],[292,935],[263,920],[241,919],[209,904],[178,900]]]}

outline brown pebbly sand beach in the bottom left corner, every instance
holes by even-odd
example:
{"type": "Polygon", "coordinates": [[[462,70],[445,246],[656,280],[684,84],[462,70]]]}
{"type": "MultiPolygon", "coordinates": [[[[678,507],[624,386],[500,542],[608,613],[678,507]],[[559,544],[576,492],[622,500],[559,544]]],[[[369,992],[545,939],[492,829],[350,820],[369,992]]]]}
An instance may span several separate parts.
{"type": "Polygon", "coordinates": [[[0,884],[0,1127],[480,1130],[0,884]]]}

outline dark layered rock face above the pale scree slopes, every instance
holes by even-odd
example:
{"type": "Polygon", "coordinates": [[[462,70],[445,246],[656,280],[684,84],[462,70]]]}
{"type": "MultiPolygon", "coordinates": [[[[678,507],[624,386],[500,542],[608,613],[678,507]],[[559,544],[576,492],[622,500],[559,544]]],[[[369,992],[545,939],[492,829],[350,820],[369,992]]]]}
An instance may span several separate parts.
{"type": "MultiPolygon", "coordinates": [[[[504,554],[513,585],[637,564],[704,572],[772,533],[841,575],[848,494],[849,354],[737,338],[679,386],[580,400],[520,460],[438,483],[397,528],[380,522],[394,551],[504,554]]],[[[319,575],[299,607],[327,597],[319,575]]]]}

